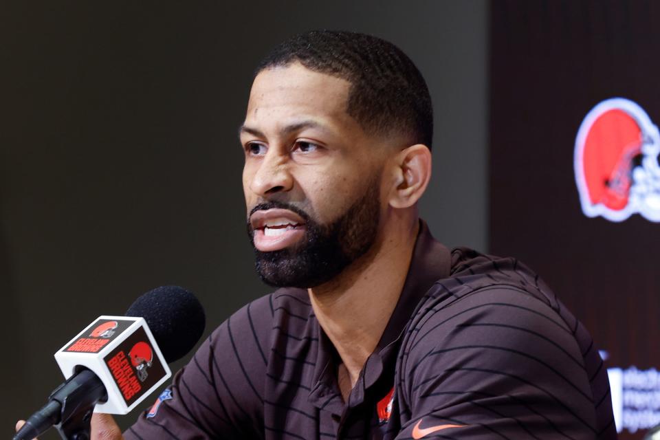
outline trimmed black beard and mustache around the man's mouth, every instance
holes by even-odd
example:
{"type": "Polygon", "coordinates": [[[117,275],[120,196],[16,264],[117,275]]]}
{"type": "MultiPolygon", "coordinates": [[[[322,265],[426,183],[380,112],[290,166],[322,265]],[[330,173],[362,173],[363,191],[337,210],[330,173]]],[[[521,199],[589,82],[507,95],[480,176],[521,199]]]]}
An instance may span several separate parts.
{"type": "MultiPolygon", "coordinates": [[[[281,201],[268,201],[250,212],[283,208],[305,221],[305,236],[296,245],[272,252],[254,248],[256,272],[267,285],[307,289],[330,281],[348,265],[366,254],[376,239],[380,219],[380,194],[375,179],[363,197],[329,225],[311,219],[307,212],[281,201]]],[[[248,221],[254,246],[254,230],[248,221]]]]}

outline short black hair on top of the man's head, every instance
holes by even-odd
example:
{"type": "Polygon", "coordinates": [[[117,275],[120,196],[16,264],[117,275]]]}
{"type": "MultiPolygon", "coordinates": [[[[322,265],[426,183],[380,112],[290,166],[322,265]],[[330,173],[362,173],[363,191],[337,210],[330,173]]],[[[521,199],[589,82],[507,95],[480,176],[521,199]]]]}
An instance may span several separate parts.
{"type": "Polygon", "coordinates": [[[315,30],[274,48],[256,69],[298,62],[351,83],[347,113],[368,133],[401,133],[431,148],[433,107],[414,63],[398,47],[357,32],[315,30]]]}

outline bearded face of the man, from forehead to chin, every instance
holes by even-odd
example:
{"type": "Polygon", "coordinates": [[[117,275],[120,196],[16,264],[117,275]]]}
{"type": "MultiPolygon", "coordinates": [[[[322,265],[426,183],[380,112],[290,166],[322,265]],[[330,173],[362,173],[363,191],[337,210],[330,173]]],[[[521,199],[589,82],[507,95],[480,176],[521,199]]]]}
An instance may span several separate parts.
{"type": "Polygon", "coordinates": [[[243,190],[266,283],[316,287],[376,241],[384,148],[346,113],[348,95],[346,80],[297,63],[254,80],[243,190]]]}

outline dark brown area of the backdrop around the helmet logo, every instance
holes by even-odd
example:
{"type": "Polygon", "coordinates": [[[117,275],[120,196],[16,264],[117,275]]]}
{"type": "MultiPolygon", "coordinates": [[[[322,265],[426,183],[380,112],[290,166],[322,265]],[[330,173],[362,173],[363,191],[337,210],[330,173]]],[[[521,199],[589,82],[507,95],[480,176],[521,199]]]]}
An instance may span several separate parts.
{"type": "Polygon", "coordinates": [[[607,98],[635,101],[660,122],[659,19],[657,1],[495,1],[491,10],[489,247],[542,274],[608,367],[660,365],[660,228],[639,214],[621,223],[582,214],[575,137],[607,98]]]}

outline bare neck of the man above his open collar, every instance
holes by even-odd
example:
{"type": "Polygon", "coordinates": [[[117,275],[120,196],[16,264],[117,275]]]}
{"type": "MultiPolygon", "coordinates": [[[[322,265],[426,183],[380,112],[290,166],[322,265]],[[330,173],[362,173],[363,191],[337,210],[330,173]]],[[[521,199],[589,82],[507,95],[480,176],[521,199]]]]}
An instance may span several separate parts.
{"type": "Polygon", "coordinates": [[[380,341],[410,267],[419,221],[391,223],[372,251],[330,283],[309,289],[314,314],[342,358],[344,399],[380,341]]]}

